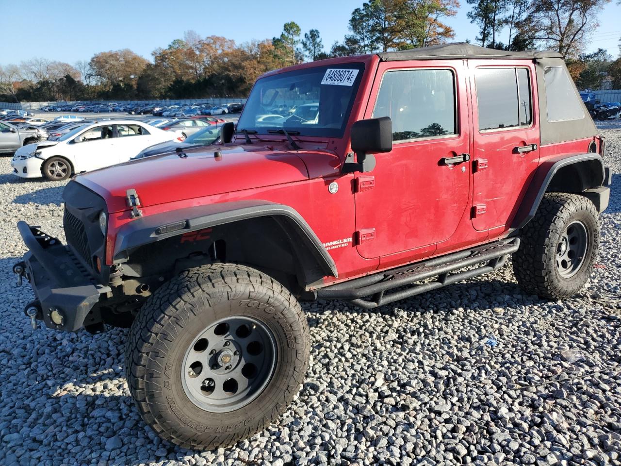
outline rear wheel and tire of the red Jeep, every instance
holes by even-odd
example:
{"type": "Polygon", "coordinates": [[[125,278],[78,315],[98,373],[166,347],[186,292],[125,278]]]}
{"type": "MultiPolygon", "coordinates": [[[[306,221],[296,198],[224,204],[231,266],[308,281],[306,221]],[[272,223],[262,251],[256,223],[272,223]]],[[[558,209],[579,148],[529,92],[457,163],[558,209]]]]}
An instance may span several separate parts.
{"type": "Polygon", "coordinates": [[[542,298],[569,298],[591,275],[598,249],[594,204],[578,194],[545,194],[513,255],[515,278],[525,291],[542,298]]]}

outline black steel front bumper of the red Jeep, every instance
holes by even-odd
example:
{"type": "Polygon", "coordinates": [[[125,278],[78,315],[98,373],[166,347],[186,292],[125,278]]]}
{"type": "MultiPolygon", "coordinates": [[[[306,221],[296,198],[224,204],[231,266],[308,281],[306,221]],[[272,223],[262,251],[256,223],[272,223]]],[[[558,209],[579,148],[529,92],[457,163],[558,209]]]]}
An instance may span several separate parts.
{"type": "Polygon", "coordinates": [[[22,270],[20,275],[30,282],[37,296],[39,303],[36,305],[40,308],[37,319],[51,329],[73,332],[98,322],[99,316],[91,311],[101,293],[109,288],[97,285],[73,252],[57,238],[23,221],[17,223],[17,228],[29,252],[14,270],[22,270]],[[53,316],[60,323],[53,322],[53,316]]]}

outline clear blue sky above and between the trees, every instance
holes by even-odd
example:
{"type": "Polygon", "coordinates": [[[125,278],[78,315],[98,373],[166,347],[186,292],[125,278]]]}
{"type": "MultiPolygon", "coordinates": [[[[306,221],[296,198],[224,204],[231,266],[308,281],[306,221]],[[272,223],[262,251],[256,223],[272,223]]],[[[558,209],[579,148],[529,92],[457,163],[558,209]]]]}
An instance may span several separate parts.
{"type": "MultiPolygon", "coordinates": [[[[156,47],[166,47],[183,37],[185,30],[201,36],[223,35],[237,43],[279,35],[283,24],[295,21],[302,32],[319,29],[324,46],[347,34],[351,11],[363,0],[170,0],[105,2],[20,0],[19,8],[4,8],[2,37],[12,39],[0,49],[0,65],[19,63],[32,57],[75,63],[89,60],[104,50],[131,48],[151,58],[156,47]],[[24,12],[32,12],[26,17],[24,12]],[[14,18],[11,16],[14,15],[14,18]]],[[[476,28],[462,0],[456,17],[446,19],[455,29],[456,41],[474,42],[476,28]]],[[[4,0],[4,6],[9,4],[4,0]]],[[[619,56],[621,6],[613,0],[599,15],[600,27],[587,51],[607,48],[619,56]]],[[[501,34],[503,42],[507,33],[501,34]]]]}

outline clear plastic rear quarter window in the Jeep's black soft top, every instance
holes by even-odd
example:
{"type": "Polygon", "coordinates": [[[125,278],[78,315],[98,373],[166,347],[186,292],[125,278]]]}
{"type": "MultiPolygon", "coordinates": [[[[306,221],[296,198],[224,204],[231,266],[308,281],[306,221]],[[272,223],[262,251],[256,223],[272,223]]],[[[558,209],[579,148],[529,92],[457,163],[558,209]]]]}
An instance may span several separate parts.
{"type": "Polygon", "coordinates": [[[546,68],[543,72],[548,122],[579,120],[584,118],[582,104],[569,76],[562,66],[546,68]]]}

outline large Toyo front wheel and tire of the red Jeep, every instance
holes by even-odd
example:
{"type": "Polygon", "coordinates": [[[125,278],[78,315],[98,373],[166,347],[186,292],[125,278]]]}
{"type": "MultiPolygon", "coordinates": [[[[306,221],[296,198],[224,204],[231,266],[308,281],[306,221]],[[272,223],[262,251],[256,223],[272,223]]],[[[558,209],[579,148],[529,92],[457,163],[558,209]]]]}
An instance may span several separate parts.
{"type": "Polygon", "coordinates": [[[252,436],[296,395],[309,330],[294,296],[236,264],[182,272],[130,329],[125,371],[140,414],[160,437],[214,449],[252,436]]]}

